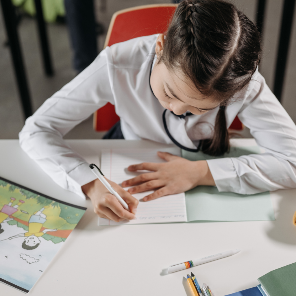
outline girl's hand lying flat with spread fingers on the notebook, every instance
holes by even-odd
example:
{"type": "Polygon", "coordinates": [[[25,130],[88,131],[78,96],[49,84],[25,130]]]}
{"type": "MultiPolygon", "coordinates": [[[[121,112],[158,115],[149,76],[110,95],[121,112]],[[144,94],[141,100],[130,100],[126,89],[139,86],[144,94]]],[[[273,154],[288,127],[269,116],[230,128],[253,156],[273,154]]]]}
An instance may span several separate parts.
{"type": "Polygon", "coordinates": [[[157,189],[143,198],[144,201],[177,194],[187,191],[198,185],[215,186],[213,176],[205,160],[190,161],[167,152],[157,152],[157,155],[166,160],[166,163],[140,163],[130,165],[128,170],[150,170],[152,173],[143,173],[135,178],[122,182],[122,187],[134,186],[128,192],[135,194],[147,190],[157,189]]]}

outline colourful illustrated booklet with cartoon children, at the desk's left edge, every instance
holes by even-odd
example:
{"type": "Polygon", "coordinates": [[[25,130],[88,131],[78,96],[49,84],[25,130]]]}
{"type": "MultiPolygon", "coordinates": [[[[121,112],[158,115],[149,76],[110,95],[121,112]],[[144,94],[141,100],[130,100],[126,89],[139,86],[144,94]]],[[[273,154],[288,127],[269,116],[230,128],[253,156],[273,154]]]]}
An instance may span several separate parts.
{"type": "Polygon", "coordinates": [[[0,178],[0,209],[0,281],[29,292],[86,208],[0,178]]]}

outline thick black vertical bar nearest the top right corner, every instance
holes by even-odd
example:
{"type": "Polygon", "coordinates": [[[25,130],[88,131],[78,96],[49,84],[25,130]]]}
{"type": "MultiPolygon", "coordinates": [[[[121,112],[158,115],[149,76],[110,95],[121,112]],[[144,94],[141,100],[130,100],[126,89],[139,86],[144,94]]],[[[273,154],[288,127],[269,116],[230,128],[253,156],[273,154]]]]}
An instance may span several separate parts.
{"type": "Polygon", "coordinates": [[[294,8],[295,0],[284,1],[283,15],[281,19],[281,33],[276,61],[276,73],[274,78],[274,94],[279,101],[281,101],[283,90],[294,8]]]}

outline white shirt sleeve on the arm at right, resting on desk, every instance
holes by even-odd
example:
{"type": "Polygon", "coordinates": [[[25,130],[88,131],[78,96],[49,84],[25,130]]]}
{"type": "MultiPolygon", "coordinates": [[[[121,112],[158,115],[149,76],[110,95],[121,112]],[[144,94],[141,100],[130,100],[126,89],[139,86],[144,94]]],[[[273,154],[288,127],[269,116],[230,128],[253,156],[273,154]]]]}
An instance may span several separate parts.
{"type": "Polygon", "coordinates": [[[247,93],[238,117],[265,153],[207,160],[218,190],[254,194],[295,188],[295,123],[259,73],[247,93]]]}

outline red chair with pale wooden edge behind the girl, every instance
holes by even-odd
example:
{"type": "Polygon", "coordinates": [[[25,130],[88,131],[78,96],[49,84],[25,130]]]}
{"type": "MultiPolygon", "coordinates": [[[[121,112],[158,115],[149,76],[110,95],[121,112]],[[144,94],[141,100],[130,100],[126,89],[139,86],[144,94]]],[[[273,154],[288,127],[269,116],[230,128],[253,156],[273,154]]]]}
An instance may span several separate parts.
{"type": "MultiPolygon", "coordinates": [[[[178,4],[152,4],[119,10],[112,16],[104,48],[132,38],[165,33],[178,4]]],[[[108,131],[119,117],[112,104],[94,112],[95,131],[108,131]]],[[[236,117],[231,129],[241,130],[242,123],[236,117]]]]}

